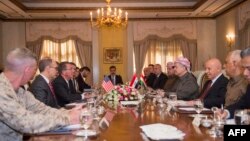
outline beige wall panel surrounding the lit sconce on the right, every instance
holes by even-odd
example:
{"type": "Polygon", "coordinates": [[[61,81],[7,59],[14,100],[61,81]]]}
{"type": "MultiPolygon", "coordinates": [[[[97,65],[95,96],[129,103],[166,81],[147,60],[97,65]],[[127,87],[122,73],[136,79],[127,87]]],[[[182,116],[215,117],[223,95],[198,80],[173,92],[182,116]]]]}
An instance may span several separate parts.
{"type": "Polygon", "coordinates": [[[229,33],[236,35],[235,42],[231,48],[231,50],[234,50],[237,48],[237,31],[237,8],[216,18],[216,51],[217,57],[223,62],[230,51],[230,48],[227,46],[226,35],[229,33]]]}

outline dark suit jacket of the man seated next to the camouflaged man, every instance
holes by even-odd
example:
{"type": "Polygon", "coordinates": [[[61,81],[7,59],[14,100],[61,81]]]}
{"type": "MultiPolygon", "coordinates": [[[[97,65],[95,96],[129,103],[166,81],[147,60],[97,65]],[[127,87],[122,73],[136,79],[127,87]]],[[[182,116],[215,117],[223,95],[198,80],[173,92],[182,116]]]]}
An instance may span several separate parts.
{"type": "Polygon", "coordinates": [[[31,83],[29,90],[34,94],[35,98],[44,104],[53,107],[59,108],[60,106],[57,104],[56,98],[53,96],[48,83],[45,79],[38,75],[31,83]]]}

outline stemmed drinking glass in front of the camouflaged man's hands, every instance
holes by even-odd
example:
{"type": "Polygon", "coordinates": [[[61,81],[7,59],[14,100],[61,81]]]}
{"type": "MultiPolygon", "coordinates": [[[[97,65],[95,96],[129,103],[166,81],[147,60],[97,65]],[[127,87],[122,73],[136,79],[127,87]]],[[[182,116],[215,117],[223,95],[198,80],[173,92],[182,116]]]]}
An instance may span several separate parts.
{"type": "Polygon", "coordinates": [[[85,130],[85,137],[87,137],[88,136],[88,130],[87,129],[91,126],[91,124],[93,122],[93,117],[92,117],[92,113],[91,113],[90,110],[83,109],[81,111],[80,122],[81,122],[81,126],[85,130]]]}

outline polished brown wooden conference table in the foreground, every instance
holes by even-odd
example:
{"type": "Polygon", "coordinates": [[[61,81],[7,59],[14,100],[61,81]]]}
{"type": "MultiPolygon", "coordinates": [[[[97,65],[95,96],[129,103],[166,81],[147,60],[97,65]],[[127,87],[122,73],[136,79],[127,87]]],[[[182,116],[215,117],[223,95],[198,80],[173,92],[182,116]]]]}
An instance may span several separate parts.
{"type": "MultiPolygon", "coordinates": [[[[183,141],[222,141],[223,137],[213,138],[207,134],[208,128],[196,127],[193,118],[187,113],[178,111],[160,111],[153,104],[147,104],[135,117],[128,110],[118,111],[107,129],[100,129],[97,136],[89,137],[90,141],[151,141],[143,136],[140,126],[163,123],[175,126],[185,133],[183,141]]],[[[84,137],[73,134],[40,134],[32,135],[28,141],[83,141],[84,137]]]]}

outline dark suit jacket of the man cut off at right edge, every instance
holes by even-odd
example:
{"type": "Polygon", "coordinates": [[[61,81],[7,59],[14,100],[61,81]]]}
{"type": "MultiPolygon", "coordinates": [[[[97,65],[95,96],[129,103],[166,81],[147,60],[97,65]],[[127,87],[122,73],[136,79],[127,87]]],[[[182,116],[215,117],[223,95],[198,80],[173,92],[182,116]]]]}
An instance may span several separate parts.
{"type": "Polygon", "coordinates": [[[230,117],[234,117],[234,111],[237,109],[250,109],[250,85],[247,86],[246,94],[244,94],[240,100],[227,107],[230,112],[230,117]]]}

